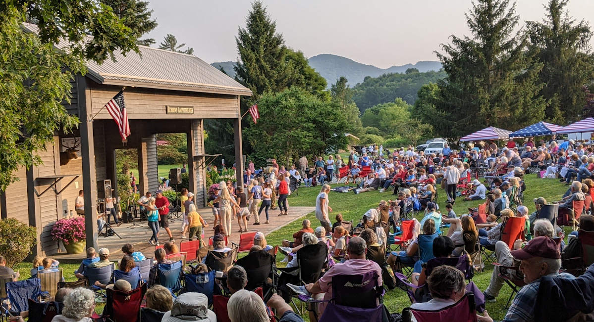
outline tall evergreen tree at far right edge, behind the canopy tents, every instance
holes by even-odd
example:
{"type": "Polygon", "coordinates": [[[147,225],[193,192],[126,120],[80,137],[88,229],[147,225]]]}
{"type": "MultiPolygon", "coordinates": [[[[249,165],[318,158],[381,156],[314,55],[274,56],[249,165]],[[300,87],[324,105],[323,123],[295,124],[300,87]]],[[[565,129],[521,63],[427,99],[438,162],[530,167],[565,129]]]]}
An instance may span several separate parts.
{"type": "Polygon", "coordinates": [[[542,63],[539,92],[548,100],[546,120],[565,124],[582,114],[585,95],[582,86],[592,77],[593,61],[587,55],[592,37],[585,21],[575,23],[565,7],[568,0],[551,0],[542,22],[527,21],[531,50],[542,63]]]}

